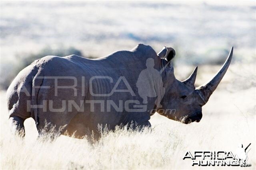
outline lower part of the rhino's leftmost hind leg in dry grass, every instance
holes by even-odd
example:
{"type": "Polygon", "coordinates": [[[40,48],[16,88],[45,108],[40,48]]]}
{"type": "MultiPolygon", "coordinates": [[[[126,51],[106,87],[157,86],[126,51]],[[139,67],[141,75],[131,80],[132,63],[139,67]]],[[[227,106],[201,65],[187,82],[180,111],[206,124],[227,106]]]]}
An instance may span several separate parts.
{"type": "Polygon", "coordinates": [[[19,135],[20,137],[25,136],[24,119],[18,116],[12,116],[9,118],[12,134],[19,135]]]}

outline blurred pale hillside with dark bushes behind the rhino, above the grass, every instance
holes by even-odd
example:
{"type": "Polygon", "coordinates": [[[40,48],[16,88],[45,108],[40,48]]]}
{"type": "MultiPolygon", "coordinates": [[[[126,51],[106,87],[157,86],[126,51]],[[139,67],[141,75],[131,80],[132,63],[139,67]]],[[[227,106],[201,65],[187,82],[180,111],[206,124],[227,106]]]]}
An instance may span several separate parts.
{"type": "Polygon", "coordinates": [[[233,62],[256,63],[255,11],[255,1],[1,2],[0,87],[46,55],[97,58],[138,43],[174,47],[180,67],[221,64],[232,46],[233,62]]]}

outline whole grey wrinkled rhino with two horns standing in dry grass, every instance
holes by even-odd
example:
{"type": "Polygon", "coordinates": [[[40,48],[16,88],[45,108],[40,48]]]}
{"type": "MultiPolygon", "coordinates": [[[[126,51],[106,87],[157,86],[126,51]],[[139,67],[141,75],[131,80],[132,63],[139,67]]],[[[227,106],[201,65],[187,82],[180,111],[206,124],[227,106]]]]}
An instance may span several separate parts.
{"type": "MultiPolygon", "coordinates": [[[[202,106],[206,104],[228,69],[232,51],[220,72],[206,85],[197,89],[194,87],[197,68],[187,80],[180,82],[174,76],[174,68],[171,62],[174,56],[175,51],[172,48],[164,47],[157,54],[150,46],[139,44],[132,51],[117,51],[99,59],[85,59],[76,55],[66,57],[46,56],[38,59],[24,68],[8,88],[7,105],[12,130],[24,130],[24,120],[32,117],[37,123],[39,133],[44,128],[45,122],[48,122],[55,126],[56,132],[59,134],[66,131],[66,134],[72,135],[76,132],[75,137],[80,138],[84,135],[90,135],[90,132],[94,131],[97,136],[98,124],[107,125],[112,130],[116,125],[129,123],[136,123],[133,128],[138,125],[140,127],[150,126],[150,115],[155,112],[152,109],[156,109],[158,113],[169,119],[182,121],[182,123],[199,122],[202,118],[202,106]],[[48,101],[47,106],[49,106],[49,100],[52,100],[53,108],[56,109],[62,108],[62,100],[74,100],[78,105],[80,105],[80,101],[87,100],[103,100],[105,103],[107,100],[112,100],[117,105],[120,100],[124,102],[138,100],[142,104],[143,98],[138,94],[136,82],[140,72],[147,68],[146,60],[148,58],[154,60],[154,69],[158,70],[162,76],[162,82],[160,81],[161,84],[157,86],[165,89],[158,105],[160,107],[156,107],[155,104],[157,97],[148,97],[145,104],[146,111],[142,112],[128,112],[124,109],[116,111],[112,107],[110,111],[106,107],[102,111],[100,104],[95,104],[96,107],[92,110],[90,103],[86,102],[83,102],[84,111],[77,111],[74,107],[72,107],[72,111],[66,107],[66,109],[55,112],[43,111],[42,108],[27,109],[27,101],[31,101],[32,105],[43,105],[44,100],[48,101]],[[59,88],[57,96],[55,96],[54,80],[47,79],[48,76],[76,77],[77,95],[75,96],[74,89],[59,88]],[[84,81],[82,76],[84,76],[84,81]],[[94,80],[92,89],[95,94],[110,93],[118,78],[124,76],[135,95],[130,92],[114,92],[111,96],[92,96],[89,81],[93,76],[110,76],[113,79],[113,82],[106,78],[94,80]],[[32,89],[35,89],[34,95],[32,95],[32,89]],[[168,109],[175,109],[176,111],[175,113],[169,113],[166,112],[168,109]],[[60,127],[63,126],[65,127],[60,130],[60,127]]],[[[154,83],[157,83],[157,81],[154,83]]],[[[58,85],[72,86],[74,80],[59,79],[58,85]]],[[[120,83],[118,89],[127,89],[127,86],[120,83]]],[[[158,89],[154,90],[158,91],[158,89]]]]}

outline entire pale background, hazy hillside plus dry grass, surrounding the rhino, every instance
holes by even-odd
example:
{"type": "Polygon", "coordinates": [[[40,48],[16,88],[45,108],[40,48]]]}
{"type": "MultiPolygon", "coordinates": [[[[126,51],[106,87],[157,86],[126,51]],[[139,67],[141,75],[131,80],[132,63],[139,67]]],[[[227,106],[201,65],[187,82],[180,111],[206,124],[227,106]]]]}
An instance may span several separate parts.
{"type": "Polygon", "coordinates": [[[188,150],[235,152],[249,143],[247,169],[255,169],[255,1],[1,2],[0,31],[1,169],[198,169],[182,160],[188,150]],[[198,65],[196,85],[214,76],[234,46],[199,123],[156,113],[152,131],[109,133],[90,145],[64,136],[36,141],[34,120],[27,119],[25,141],[11,137],[4,90],[24,66],[45,55],[95,58],[138,43],[157,52],[174,47],[176,77],[184,80],[198,65]]]}

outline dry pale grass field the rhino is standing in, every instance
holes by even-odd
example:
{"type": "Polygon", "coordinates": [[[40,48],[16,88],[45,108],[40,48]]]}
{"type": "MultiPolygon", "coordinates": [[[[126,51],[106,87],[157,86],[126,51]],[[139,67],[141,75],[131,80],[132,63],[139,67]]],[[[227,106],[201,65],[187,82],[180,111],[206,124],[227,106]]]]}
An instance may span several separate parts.
{"type": "MultiPolygon", "coordinates": [[[[240,167],[227,166],[191,166],[191,160],[182,158],[187,151],[231,150],[236,152],[241,144],[247,146],[252,143],[251,150],[248,152],[248,163],[252,166],[247,169],[255,169],[256,88],[252,74],[255,72],[253,65],[246,65],[246,67],[231,65],[224,80],[203,107],[203,118],[199,123],[185,125],[156,113],[150,119],[153,125],[152,131],[132,132],[120,129],[116,133],[105,134],[93,145],[86,139],[78,140],[65,136],[59,137],[52,143],[36,140],[38,133],[32,119],[25,121],[26,137],[23,141],[11,137],[8,129],[5,92],[2,91],[0,93],[0,168],[240,169],[240,167]],[[236,70],[240,70],[244,78],[246,76],[252,78],[242,80],[236,70]]],[[[207,80],[208,75],[214,74],[207,72],[206,68],[208,67],[199,68],[197,83],[207,80]]],[[[216,71],[216,69],[213,70],[216,71]]]]}

